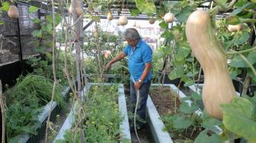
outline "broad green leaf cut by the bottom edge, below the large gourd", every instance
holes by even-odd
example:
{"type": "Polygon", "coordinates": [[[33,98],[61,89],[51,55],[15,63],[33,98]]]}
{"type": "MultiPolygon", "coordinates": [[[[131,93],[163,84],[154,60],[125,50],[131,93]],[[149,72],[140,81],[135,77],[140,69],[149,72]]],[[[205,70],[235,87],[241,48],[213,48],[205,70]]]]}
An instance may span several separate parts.
{"type": "Polygon", "coordinates": [[[209,136],[207,134],[207,130],[203,130],[203,132],[200,132],[200,134],[197,136],[197,138],[194,141],[195,143],[221,143],[222,140],[219,137],[219,135],[213,134],[209,136]]]}

